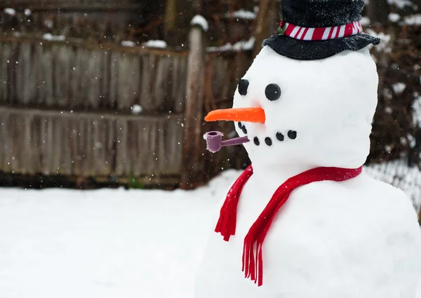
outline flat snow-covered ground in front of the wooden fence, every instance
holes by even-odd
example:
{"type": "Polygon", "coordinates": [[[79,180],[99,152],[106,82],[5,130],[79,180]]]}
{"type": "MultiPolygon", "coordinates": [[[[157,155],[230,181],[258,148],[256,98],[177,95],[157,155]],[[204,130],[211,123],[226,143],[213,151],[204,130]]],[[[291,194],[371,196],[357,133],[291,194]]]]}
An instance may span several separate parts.
{"type": "MultiPolygon", "coordinates": [[[[388,180],[391,167],[367,172],[388,180]]],[[[192,298],[215,206],[238,175],[194,191],[0,189],[0,297],[192,298]]]]}

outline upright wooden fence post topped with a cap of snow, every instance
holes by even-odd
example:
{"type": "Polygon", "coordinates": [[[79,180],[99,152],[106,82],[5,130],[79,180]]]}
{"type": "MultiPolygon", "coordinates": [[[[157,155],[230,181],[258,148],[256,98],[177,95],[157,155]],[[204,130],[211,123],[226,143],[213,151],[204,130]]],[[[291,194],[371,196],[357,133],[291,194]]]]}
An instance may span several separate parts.
{"type": "MultiPolygon", "coordinates": [[[[197,18],[197,17],[195,17],[197,18]]],[[[201,18],[201,17],[200,17],[201,18]]],[[[203,21],[205,21],[203,19],[203,21]]],[[[205,79],[206,26],[192,22],[189,32],[189,56],[187,58],[187,84],[185,104],[185,130],[182,150],[182,189],[192,189],[200,182],[203,161],[203,100],[205,79]]]]}

